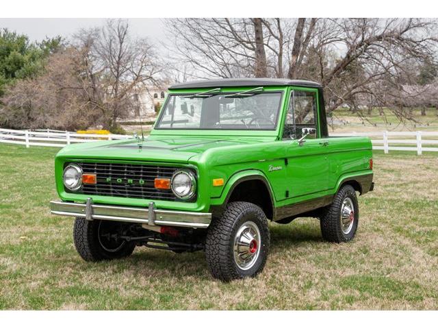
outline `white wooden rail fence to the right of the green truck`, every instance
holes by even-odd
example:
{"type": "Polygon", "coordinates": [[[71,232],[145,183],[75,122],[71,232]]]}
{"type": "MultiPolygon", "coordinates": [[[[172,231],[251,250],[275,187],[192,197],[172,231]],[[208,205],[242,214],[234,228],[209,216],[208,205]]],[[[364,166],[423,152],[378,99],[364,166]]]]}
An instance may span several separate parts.
{"type": "Polygon", "coordinates": [[[389,151],[417,151],[417,154],[421,156],[424,151],[438,152],[438,132],[348,132],[329,135],[368,136],[371,138],[372,149],[383,149],[385,153],[389,153],[389,151]]]}

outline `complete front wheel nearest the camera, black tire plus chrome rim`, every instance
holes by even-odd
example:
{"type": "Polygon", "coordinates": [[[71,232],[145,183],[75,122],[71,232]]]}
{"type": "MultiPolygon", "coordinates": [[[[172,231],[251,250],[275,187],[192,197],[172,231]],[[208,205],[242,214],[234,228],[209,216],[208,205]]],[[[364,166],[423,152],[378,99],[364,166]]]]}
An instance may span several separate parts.
{"type": "Polygon", "coordinates": [[[249,202],[231,202],[209,226],[205,256],[214,278],[231,281],[257,276],[266,264],[269,245],[263,210],[249,202]]]}

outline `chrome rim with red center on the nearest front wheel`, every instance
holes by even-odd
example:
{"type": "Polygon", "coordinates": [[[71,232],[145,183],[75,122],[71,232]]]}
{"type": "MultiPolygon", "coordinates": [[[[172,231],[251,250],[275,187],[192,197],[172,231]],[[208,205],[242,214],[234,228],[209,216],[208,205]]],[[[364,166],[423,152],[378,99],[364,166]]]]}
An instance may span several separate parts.
{"type": "Polygon", "coordinates": [[[257,225],[247,221],[240,226],[234,238],[234,260],[240,269],[250,269],[259,258],[261,236],[257,225]]]}

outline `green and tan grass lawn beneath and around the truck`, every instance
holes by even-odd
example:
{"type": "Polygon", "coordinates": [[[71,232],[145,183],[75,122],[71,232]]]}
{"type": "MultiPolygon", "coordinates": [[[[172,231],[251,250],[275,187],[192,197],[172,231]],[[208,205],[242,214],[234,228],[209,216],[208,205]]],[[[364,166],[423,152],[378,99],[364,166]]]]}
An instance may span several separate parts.
{"type": "Polygon", "coordinates": [[[56,152],[0,145],[0,309],[438,308],[436,155],[377,152],[354,241],[322,241],[316,219],[272,224],[263,273],[224,284],[202,252],[83,262],[73,220],[49,215],[56,152]]]}

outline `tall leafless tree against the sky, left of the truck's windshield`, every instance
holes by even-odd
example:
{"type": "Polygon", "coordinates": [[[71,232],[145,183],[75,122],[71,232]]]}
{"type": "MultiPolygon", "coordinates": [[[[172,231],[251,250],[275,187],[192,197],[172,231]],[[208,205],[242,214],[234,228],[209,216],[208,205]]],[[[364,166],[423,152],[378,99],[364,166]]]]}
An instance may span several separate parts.
{"type": "Polygon", "coordinates": [[[137,106],[133,95],[157,82],[160,66],[153,47],[145,39],[132,40],[127,21],[121,20],[81,30],[74,45],[83,93],[101,112],[103,126],[113,129],[137,106]]]}

